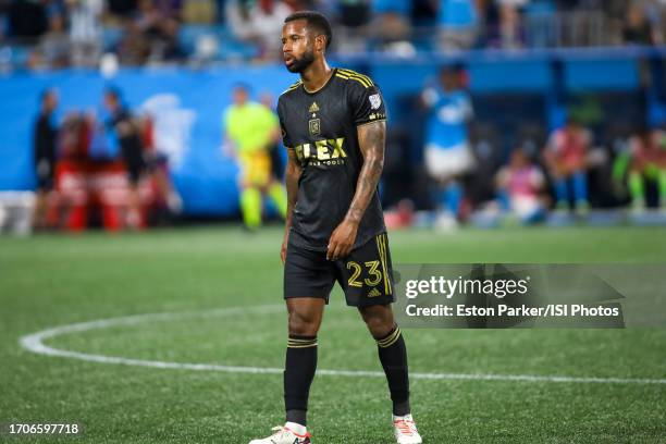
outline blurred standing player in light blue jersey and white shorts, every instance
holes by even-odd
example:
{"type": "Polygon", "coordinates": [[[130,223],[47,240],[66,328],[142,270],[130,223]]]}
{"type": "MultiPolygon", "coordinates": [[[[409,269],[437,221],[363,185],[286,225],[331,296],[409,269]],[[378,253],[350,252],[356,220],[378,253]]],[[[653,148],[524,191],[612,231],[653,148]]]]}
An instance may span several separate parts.
{"type": "Polygon", "coordinates": [[[458,67],[444,67],[437,83],[425,88],[421,100],[430,111],[425,134],[425,168],[436,185],[440,224],[451,225],[462,199],[460,177],[474,166],[469,147],[468,123],[473,111],[461,88],[458,67]]]}

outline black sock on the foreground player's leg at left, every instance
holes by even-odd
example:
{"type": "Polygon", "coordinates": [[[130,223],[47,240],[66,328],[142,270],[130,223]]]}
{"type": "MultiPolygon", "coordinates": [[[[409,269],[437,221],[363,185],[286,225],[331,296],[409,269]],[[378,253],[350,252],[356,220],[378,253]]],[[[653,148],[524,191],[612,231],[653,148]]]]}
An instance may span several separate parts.
{"type": "Polygon", "coordinates": [[[317,369],[317,336],[289,335],[284,365],[284,406],[287,422],[307,425],[308,396],[317,369]]]}

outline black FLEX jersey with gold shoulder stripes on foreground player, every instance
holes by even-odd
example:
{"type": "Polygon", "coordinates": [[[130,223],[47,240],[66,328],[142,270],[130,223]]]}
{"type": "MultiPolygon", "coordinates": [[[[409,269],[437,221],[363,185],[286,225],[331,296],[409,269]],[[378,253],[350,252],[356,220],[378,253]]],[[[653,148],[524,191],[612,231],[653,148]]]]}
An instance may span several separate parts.
{"type": "MultiPolygon", "coordinates": [[[[316,92],[300,82],[292,85],[280,96],[278,115],[284,145],[295,151],[301,168],[291,242],[325,250],[349,209],[363,164],[357,126],[385,120],[384,101],[368,76],[335,69],[316,92]]],[[[385,231],[375,190],[354,248],[385,231]]]]}

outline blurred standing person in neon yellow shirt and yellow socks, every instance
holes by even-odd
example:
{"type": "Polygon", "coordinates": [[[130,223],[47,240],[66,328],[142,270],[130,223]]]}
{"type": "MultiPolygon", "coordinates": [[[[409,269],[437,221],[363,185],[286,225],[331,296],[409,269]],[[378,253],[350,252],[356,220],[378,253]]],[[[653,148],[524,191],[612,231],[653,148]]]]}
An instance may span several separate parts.
{"type": "Polygon", "coordinates": [[[224,112],[224,130],[240,166],[240,211],[245,226],[261,225],[261,195],[268,194],[286,217],[284,187],[271,171],[271,146],[280,140],[275,114],[264,104],[249,100],[245,85],[237,85],[234,103],[224,112]]]}

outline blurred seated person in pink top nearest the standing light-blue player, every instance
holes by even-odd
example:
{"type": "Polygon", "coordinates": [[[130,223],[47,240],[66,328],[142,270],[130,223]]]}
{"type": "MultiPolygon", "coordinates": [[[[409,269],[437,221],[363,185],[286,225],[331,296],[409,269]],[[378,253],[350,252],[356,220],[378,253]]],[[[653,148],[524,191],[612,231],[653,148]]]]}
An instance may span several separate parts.
{"type": "Polygon", "coordinates": [[[544,218],[545,176],[522,149],[511,152],[509,164],[496,175],[496,186],[504,210],[518,218],[520,223],[530,224],[544,218]]]}

